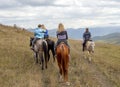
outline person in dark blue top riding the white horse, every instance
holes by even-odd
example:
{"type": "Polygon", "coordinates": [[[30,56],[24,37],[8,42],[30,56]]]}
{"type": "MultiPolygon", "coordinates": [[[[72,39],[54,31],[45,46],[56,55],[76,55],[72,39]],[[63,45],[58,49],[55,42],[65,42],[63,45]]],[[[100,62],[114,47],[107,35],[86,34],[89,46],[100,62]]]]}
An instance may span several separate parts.
{"type": "Polygon", "coordinates": [[[91,39],[91,33],[89,32],[89,29],[86,28],[86,31],[83,34],[83,51],[85,50],[86,47],[86,42],[91,39]]]}

